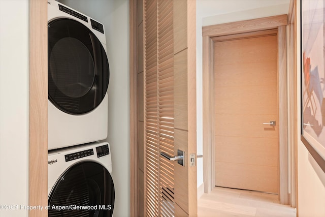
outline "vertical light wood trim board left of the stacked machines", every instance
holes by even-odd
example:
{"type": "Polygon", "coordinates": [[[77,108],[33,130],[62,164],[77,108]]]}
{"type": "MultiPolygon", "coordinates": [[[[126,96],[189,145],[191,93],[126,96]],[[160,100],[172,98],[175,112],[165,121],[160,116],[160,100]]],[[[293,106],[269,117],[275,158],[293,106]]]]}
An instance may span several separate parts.
{"type": "MultiPolygon", "coordinates": [[[[47,1],[29,0],[28,203],[47,206],[47,1]]],[[[46,217],[47,210],[29,216],[46,217]]]]}

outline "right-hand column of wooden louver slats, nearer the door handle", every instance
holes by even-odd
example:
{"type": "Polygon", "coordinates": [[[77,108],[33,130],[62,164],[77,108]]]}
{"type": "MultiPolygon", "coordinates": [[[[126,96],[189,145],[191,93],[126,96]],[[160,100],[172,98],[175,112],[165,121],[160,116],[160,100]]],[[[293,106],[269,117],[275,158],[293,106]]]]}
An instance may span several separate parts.
{"type": "MultiPolygon", "coordinates": [[[[159,152],[174,152],[173,2],[158,1],[158,137],[159,152]]],[[[174,215],[174,162],[159,157],[160,213],[174,215]]]]}

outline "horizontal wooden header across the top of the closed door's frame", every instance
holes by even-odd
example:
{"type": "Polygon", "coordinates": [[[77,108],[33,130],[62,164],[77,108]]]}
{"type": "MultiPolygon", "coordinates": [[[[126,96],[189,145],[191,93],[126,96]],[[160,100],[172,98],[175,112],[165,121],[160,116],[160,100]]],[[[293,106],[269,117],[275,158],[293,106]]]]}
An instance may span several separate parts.
{"type": "Polygon", "coordinates": [[[285,26],[286,24],[287,15],[284,14],[273,17],[265,17],[212,26],[204,26],[202,28],[202,35],[215,37],[222,35],[239,34],[244,32],[253,32],[256,30],[276,28],[278,26],[285,26]]]}

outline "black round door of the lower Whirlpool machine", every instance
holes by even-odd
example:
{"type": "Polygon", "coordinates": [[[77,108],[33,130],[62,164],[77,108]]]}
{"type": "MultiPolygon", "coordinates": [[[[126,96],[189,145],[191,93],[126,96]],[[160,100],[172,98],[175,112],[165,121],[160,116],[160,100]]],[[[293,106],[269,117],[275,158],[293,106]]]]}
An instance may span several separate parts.
{"type": "Polygon", "coordinates": [[[94,162],[81,162],[58,179],[48,199],[48,216],[112,216],[114,183],[110,173],[94,162]]]}

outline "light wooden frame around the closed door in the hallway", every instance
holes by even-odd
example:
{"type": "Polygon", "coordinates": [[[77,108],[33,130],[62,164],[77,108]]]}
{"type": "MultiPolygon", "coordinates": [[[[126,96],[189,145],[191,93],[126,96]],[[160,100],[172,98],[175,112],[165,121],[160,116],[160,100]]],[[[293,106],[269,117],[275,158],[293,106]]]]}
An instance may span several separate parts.
{"type": "Polygon", "coordinates": [[[213,189],[214,180],[214,37],[276,29],[278,38],[279,105],[279,199],[289,204],[287,146],[287,15],[258,18],[202,27],[203,36],[203,179],[204,192],[213,189]]]}

